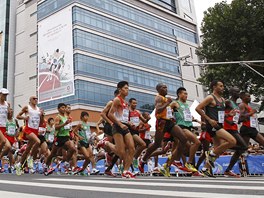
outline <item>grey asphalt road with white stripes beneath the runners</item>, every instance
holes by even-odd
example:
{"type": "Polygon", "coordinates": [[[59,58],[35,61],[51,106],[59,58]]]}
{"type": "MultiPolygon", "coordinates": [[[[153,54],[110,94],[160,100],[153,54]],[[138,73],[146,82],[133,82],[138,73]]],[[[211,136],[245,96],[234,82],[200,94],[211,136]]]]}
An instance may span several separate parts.
{"type": "Polygon", "coordinates": [[[264,177],[197,178],[0,174],[1,198],[257,198],[264,197],[264,177]]]}

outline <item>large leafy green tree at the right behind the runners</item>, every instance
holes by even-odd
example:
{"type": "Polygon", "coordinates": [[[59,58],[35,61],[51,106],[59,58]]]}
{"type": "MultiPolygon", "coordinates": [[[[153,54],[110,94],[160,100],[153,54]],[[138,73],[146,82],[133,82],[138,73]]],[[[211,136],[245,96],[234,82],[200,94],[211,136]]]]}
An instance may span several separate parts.
{"type": "MultiPolygon", "coordinates": [[[[264,60],[264,0],[221,2],[204,12],[202,47],[197,54],[207,62],[264,60]]],[[[264,74],[264,63],[251,64],[264,74]]],[[[227,87],[237,86],[257,99],[264,96],[264,79],[247,67],[206,66],[198,80],[209,87],[221,79],[227,87]]]]}

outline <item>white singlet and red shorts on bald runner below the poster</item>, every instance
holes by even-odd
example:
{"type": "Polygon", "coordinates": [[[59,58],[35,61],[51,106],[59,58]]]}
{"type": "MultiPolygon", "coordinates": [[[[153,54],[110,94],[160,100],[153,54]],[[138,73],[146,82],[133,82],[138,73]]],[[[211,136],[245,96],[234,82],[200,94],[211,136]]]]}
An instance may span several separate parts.
{"type": "Polygon", "coordinates": [[[28,105],[28,114],[29,119],[26,122],[26,127],[24,129],[24,133],[31,134],[34,133],[38,136],[39,124],[40,124],[40,110],[36,106],[36,109],[33,109],[30,105],[28,105]]]}

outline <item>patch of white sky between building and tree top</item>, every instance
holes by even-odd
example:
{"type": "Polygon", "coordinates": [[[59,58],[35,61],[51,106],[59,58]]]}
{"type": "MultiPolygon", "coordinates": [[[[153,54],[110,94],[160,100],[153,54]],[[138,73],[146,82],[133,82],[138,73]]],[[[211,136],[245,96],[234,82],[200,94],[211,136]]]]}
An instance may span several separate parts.
{"type": "MultiPolygon", "coordinates": [[[[223,0],[194,0],[196,15],[197,15],[197,24],[201,26],[203,20],[203,12],[206,11],[209,7],[213,7],[215,3],[222,2],[223,0]]],[[[225,0],[224,0],[225,1],[225,0]]],[[[232,0],[226,0],[227,3],[231,3],[232,0]]]]}

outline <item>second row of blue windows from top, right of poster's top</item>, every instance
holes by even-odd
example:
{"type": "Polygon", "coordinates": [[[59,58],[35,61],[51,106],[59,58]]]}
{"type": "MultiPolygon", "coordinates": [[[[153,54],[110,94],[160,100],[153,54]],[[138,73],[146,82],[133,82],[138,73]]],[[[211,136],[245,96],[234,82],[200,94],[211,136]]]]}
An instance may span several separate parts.
{"type": "Polygon", "coordinates": [[[178,54],[176,41],[172,42],[110,18],[79,7],[73,8],[73,23],[88,26],[110,35],[136,42],[172,55],[178,54]]]}

